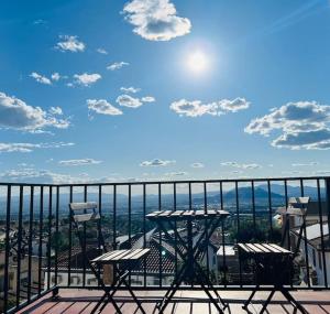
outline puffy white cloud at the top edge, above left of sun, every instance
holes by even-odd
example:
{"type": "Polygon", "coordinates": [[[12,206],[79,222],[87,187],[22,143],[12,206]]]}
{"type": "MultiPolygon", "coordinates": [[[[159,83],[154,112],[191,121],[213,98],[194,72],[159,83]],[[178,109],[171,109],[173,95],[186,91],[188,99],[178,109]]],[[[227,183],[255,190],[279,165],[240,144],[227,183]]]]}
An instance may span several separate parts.
{"type": "Polygon", "coordinates": [[[123,8],[133,32],[148,41],[169,41],[190,32],[191,23],[180,18],[169,0],[133,0],[123,8]]]}

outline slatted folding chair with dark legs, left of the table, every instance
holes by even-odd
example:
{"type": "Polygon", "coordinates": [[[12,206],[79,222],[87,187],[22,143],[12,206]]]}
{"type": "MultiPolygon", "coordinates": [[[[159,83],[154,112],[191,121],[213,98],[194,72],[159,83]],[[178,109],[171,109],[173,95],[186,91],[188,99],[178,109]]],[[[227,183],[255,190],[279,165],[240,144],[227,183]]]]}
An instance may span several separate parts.
{"type": "MultiPolygon", "coordinates": [[[[124,285],[132,299],[136,303],[140,311],[145,314],[140,300],[135,296],[132,288],[127,281],[130,271],[132,271],[136,264],[144,258],[150,249],[129,249],[129,250],[112,250],[107,251],[105,239],[101,231],[100,214],[98,212],[97,203],[70,203],[70,217],[76,229],[77,236],[79,238],[82,257],[86,259],[90,270],[94,272],[98,280],[99,285],[105,291],[102,297],[98,301],[96,306],[90,313],[95,313],[99,306],[99,313],[106,307],[108,302],[111,302],[114,306],[117,313],[122,313],[119,305],[114,301],[113,296],[120,286],[124,285]],[[98,245],[94,249],[98,251],[97,256],[92,256],[86,250],[86,226],[88,221],[97,221],[97,232],[98,232],[98,245]],[[85,230],[85,231],[84,231],[85,230]],[[102,277],[103,267],[112,266],[113,268],[113,282],[111,284],[106,284],[102,277]],[[107,301],[106,301],[107,299],[107,301]]],[[[94,250],[95,252],[95,250],[94,250]]]]}

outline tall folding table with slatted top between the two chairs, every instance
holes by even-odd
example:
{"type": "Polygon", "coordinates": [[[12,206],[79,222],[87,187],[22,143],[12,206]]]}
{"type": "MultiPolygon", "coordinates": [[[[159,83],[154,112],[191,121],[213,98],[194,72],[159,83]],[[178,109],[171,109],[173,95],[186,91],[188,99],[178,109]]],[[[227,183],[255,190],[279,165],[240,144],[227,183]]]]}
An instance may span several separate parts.
{"type": "Polygon", "coordinates": [[[198,257],[204,256],[208,249],[210,237],[215,232],[220,223],[229,216],[226,210],[157,210],[146,215],[146,218],[157,224],[158,228],[164,232],[165,238],[169,242],[177,240],[177,252],[183,260],[182,268],[177,272],[172,285],[167,290],[164,299],[157,305],[160,313],[163,313],[169,301],[175,295],[179,285],[183,282],[191,284],[200,284],[201,289],[208,295],[210,301],[215,304],[219,313],[223,313],[223,310],[228,306],[220,297],[218,291],[209,280],[208,274],[204,271],[198,262],[198,257]],[[183,221],[187,228],[187,239],[184,240],[180,232],[176,228],[176,221],[183,221]],[[205,223],[204,229],[196,241],[193,236],[193,223],[205,223]],[[173,232],[168,232],[169,227],[173,232]],[[213,291],[216,297],[210,293],[213,291]],[[219,302],[222,308],[219,306],[219,302]]]}

